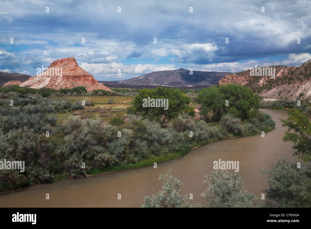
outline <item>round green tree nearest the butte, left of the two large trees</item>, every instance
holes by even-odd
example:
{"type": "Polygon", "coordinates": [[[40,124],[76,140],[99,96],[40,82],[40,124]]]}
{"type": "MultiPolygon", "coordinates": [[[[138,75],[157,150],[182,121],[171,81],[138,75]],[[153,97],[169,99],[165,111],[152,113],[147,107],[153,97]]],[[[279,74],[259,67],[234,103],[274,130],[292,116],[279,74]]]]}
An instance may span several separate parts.
{"type": "Polygon", "coordinates": [[[150,117],[151,119],[160,122],[161,124],[166,121],[177,117],[179,113],[188,113],[194,116],[194,107],[190,107],[190,99],[179,89],[174,88],[156,88],[156,89],[142,89],[138,95],[133,98],[132,107],[128,107],[128,114],[142,114],[143,116],[150,117]],[[164,107],[143,107],[143,99],[168,99],[168,109],[164,107]]]}

